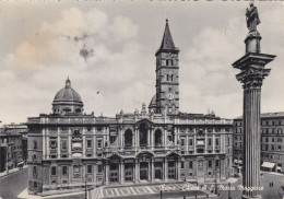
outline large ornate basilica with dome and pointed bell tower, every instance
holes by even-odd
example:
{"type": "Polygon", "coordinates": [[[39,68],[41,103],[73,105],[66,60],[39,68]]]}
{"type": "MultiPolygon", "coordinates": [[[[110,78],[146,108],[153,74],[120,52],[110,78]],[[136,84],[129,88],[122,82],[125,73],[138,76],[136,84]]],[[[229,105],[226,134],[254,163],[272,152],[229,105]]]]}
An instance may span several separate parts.
{"type": "Polygon", "coordinates": [[[149,112],[96,117],[83,113],[71,81],[52,114],[27,119],[28,192],[51,195],[85,186],[224,180],[230,175],[233,120],[179,112],[179,49],[168,22],[156,56],[156,94],[149,112]]]}

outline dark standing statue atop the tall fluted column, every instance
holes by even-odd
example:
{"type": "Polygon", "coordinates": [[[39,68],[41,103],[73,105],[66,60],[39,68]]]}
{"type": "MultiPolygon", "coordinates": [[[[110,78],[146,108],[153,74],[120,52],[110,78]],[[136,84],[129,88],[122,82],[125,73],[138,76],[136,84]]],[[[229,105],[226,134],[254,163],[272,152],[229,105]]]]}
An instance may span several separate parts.
{"type": "Polygon", "coordinates": [[[260,24],[257,7],[252,2],[249,3],[249,8],[246,10],[247,27],[249,32],[257,32],[257,25],[260,24]]]}

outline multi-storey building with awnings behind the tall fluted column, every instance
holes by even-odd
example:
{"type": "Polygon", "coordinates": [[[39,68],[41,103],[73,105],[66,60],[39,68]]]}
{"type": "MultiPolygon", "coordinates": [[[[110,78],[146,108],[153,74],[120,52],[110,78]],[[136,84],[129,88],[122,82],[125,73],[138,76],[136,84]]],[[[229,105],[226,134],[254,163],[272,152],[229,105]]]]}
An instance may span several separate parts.
{"type": "MultiPolygon", "coordinates": [[[[242,117],[234,119],[234,163],[242,165],[242,117]]],[[[284,171],[284,113],[261,114],[261,168],[284,171]]]]}

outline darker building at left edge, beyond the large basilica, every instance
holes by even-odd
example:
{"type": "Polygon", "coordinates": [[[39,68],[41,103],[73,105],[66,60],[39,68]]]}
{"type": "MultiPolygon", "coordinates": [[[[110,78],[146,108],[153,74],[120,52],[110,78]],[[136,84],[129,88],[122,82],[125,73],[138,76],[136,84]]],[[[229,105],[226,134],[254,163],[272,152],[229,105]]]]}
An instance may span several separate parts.
{"type": "Polygon", "coordinates": [[[4,125],[0,129],[0,172],[9,171],[27,159],[27,127],[4,125]]]}

